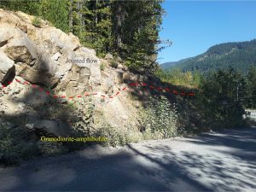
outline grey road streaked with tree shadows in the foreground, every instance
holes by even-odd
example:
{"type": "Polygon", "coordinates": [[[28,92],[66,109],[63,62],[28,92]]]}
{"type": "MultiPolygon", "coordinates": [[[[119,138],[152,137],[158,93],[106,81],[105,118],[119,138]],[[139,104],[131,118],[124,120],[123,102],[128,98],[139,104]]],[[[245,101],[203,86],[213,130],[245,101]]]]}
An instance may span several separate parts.
{"type": "Polygon", "coordinates": [[[96,146],[0,169],[0,191],[256,191],[256,128],[96,146]]]}

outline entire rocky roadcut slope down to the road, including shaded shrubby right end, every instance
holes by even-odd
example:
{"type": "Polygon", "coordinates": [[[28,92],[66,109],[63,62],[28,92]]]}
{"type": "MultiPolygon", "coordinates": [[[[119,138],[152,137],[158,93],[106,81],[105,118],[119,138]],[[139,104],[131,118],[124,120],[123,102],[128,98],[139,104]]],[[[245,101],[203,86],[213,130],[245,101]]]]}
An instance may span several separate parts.
{"type": "Polygon", "coordinates": [[[34,20],[0,9],[0,165],[88,144],[43,136],[107,137],[116,146],[198,131],[191,90],[131,73],[119,58],[98,58],[72,33],[34,20]]]}

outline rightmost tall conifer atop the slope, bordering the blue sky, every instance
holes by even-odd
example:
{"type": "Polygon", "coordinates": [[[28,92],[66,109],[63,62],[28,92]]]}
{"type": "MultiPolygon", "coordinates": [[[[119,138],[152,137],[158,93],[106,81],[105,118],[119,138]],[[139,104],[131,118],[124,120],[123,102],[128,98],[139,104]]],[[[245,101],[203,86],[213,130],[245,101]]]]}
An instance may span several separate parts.
{"type": "MultiPolygon", "coordinates": [[[[113,9],[117,9],[113,6],[113,9]]],[[[122,49],[119,50],[126,65],[134,70],[151,68],[159,42],[163,9],[161,1],[129,1],[122,4],[125,20],[122,20],[122,49]]]]}

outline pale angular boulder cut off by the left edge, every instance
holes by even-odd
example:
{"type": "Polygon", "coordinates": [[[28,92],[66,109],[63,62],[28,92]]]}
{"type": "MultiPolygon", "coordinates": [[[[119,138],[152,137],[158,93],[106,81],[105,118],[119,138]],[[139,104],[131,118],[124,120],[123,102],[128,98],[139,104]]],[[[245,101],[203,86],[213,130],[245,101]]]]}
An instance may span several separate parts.
{"type": "Polygon", "coordinates": [[[15,71],[15,61],[9,59],[0,49],[0,83],[9,77],[11,72],[15,71]]]}

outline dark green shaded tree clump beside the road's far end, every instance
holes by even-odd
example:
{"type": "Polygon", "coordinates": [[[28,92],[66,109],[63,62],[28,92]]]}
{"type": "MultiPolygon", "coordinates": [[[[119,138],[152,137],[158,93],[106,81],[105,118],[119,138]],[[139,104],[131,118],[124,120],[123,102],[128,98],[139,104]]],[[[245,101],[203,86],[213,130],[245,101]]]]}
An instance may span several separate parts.
{"type": "Polygon", "coordinates": [[[218,70],[204,79],[198,104],[208,126],[237,127],[242,121],[245,79],[234,68],[218,70]]]}

